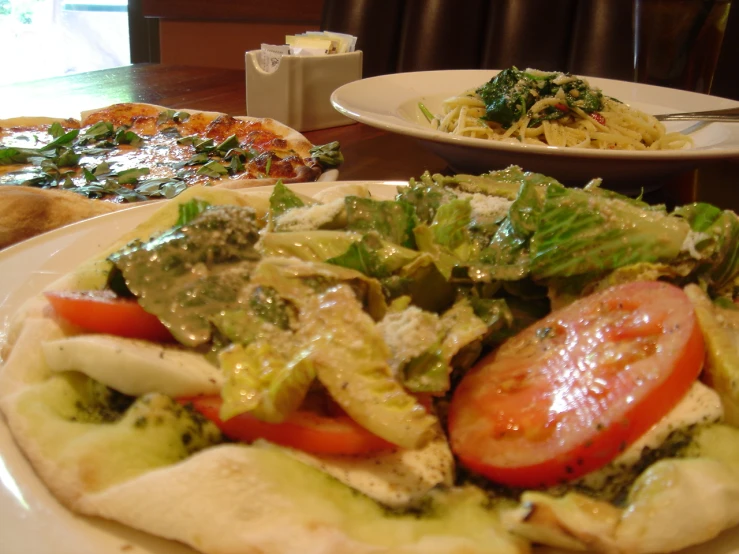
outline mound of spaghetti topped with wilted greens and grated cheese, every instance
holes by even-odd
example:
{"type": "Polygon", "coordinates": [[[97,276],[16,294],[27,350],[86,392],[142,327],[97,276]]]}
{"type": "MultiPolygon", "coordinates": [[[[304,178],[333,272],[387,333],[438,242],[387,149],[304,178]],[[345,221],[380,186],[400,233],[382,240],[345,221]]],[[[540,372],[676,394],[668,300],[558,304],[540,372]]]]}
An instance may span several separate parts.
{"type": "Polygon", "coordinates": [[[445,100],[431,124],[465,137],[544,146],[618,150],[692,146],[690,137],[667,133],[653,116],[604,96],[585,79],[515,67],[445,100]]]}

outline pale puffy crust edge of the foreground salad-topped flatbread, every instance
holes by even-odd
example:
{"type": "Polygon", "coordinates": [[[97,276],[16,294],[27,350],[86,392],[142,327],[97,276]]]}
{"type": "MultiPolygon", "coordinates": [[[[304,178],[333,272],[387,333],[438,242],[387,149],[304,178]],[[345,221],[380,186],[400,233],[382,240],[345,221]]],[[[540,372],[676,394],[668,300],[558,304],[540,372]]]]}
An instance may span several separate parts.
{"type": "MultiPolygon", "coordinates": [[[[181,196],[266,210],[263,195],[193,188],[181,196]],[[202,195],[202,196],[201,196],[202,195]]],[[[108,252],[176,219],[168,202],[148,222],[54,289],[101,288],[108,252]]],[[[482,509],[474,491],[449,495],[430,519],[389,515],[281,448],[226,444],[179,458],[160,448],[176,429],[132,433],[70,422],[69,383],[52,375],[39,344],[75,329],[34,299],[12,322],[0,372],[0,409],[23,452],[70,509],[178,540],[208,554],[244,552],[475,554],[529,551],[531,543],[574,551],[669,552],[739,524],[739,430],[716,425],[699,458],[665,459],[645,471],[617,508],[578,493],[526,492],[517,506],[482,509]]],[[[156,406],[155,406],[156,408],[156,406]]],[[[162,417],[166,410],[162,410],[162,417]]],[[[130,422],[129,422],[130,423],[130,422]]]]}

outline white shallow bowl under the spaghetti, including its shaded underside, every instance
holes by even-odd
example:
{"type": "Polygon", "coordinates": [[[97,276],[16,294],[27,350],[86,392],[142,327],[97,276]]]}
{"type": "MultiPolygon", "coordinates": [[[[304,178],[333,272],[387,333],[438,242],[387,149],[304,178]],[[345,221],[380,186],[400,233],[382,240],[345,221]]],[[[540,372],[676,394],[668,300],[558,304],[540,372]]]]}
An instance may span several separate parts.
{"type": "MultiPolygon", "coordinates": [[[[516,164],[561,181],[602,177],[615,181],[665,176],[719,158],[739,157],[739,124],[700,124],[691,133],[691,150],[635,152],[510,144],[458,137],[431,128],[418,109],[423,102],[440,113],[441,102],[489,81],[497,70],[420,71],[362,79],[331,95],[344,115],[380,129],[417,138],[461,173],[484,173],[516,164]]],[[[652,114],[713,110],[739,102],[681,90],[587,77],[603,93],[652,114]]],[[[694,127],[695,122],[669,122],[670,131],[694,127]]],[[[606,183],[607,184],[607,183],[606,183]]]]}

